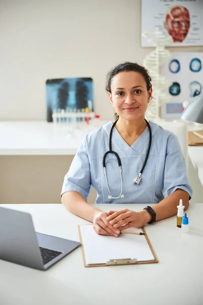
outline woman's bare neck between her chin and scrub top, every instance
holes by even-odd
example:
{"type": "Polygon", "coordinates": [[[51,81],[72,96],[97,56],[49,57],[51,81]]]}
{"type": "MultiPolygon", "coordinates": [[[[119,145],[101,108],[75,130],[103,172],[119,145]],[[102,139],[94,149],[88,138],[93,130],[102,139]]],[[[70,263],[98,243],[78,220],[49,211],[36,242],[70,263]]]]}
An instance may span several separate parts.
{"type": "Polygon", "coordinates": [[[138,138],[146,129],[147,123],[144,117],[136,120],[126,120],[119,117],[115,127],[125,140],[125,138],[138,138]]]}

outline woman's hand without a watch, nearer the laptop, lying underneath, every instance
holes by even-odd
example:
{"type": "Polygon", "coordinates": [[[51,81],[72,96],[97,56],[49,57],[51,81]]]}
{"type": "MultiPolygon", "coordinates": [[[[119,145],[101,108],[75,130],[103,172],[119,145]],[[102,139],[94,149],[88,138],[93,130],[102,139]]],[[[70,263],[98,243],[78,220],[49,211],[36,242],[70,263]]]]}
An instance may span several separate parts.
{"type": "Polygon", "coordinates": [[[93,217],[94,231],[99,235],[110,235],[118,237],[120,230],[110,225],[107,217],[109,214],[103,211],[97,211],[93,217]]]}

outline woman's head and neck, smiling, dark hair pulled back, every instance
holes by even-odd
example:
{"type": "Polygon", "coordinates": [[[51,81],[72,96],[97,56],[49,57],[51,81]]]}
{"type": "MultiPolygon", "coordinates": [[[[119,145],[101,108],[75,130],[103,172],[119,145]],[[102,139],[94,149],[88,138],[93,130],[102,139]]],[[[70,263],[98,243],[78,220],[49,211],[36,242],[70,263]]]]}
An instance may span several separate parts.
{"type": "Polygon", "coordinates": [[[131,146],[147,127],[144,115],[152,97],[151,77],[144,67],[127,62],[110,71],[106,90],[120,118],[116,129],[131,146]]]}

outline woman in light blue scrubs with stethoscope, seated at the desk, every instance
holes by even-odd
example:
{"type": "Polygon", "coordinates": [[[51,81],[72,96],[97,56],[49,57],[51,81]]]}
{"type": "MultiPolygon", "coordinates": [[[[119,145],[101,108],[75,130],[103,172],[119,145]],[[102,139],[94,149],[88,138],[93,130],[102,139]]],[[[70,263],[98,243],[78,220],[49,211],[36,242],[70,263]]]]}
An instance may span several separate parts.
{"type": "Polygon", "coordinates": [[[64,177],[61,202],[91,221],[98,234],[117,237],[121,226],[142,227],[175,215],[180,199],[187,208],[192,189],[178,138],[145,120],[152,98],[148,71],[138,64],[120,64],[107,75],[106,90],[118,120],[84,138],[64,177]],[[91,185],[96,203],[156,205],[106,213],[87,203],[91,185]]]}

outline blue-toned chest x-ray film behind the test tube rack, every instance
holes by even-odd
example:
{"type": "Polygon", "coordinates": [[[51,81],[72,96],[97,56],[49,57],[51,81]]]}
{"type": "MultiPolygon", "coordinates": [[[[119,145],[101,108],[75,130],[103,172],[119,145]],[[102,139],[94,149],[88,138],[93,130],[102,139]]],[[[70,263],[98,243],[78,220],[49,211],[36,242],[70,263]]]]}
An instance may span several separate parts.
{"type": "Polygon", "coordinates": [[[47,121],[52,122],[53,110],[84,109],[91,101],[93,111],[92,78],[60,78],[46,81],[47,121]]]}

